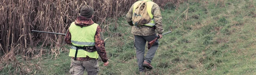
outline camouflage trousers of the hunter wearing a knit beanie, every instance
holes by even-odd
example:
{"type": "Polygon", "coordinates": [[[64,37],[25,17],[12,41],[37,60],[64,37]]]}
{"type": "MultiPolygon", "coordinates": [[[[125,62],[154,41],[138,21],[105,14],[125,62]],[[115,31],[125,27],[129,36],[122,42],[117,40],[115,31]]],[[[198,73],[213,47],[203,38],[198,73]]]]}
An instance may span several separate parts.
{"type": "Polygon", "coordinates": [[[84,75],[84,70],[87,71],[87,75],[98,75],[99,64],[97,59],[89,61],[75,61],[71,58],[69,71],[71,75],[84,75]]]}

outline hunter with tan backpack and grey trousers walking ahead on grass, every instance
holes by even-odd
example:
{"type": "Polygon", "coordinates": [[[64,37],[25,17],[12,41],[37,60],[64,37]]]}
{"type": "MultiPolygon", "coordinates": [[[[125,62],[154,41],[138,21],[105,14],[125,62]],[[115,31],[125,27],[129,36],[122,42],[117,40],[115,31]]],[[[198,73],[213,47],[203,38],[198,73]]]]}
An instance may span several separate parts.
{"type": "Polygon", "coordinates": [[[131,33],[134,35],[134,47],[136,48],[136,57],[140,74],[146,69],[151,70],[151,60],[158,48],[158,40],[145,54],[145,44],[154,40],[157,36],[163,37],[163,25],[160,7],[152,0],[139,0],[129,9],[126,14],[126,20],[132,26],[131,33]],[[137,10],[138,9],[138,10],[137,10]],[[140,10],[141,9],[141,10],[140,10]],[[142,12],[145,10],[144,12],[142,12]],[[145,19],[148,17],[149,19],[145,19]],[[140,20],[144,18],[143,20],[140,20]],[[148,22],[147,22],[148,21],[148,22]],[[144,24],[143,24],[144,23],[144,24]],[[145,69],[146,68],[146,69],[145,69]]]}

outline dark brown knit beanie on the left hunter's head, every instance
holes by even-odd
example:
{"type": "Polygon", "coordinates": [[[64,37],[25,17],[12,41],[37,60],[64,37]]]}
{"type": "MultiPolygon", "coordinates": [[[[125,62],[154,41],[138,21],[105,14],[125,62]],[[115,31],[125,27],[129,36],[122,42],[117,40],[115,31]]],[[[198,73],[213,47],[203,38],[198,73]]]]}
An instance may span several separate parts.
{"type": "Polygon", "coordinates": [[[80,15],[90,18],[91,16],[93,16],[93,8],[89,5],[84,5],[81,10],[80,10],[80,15]]]}

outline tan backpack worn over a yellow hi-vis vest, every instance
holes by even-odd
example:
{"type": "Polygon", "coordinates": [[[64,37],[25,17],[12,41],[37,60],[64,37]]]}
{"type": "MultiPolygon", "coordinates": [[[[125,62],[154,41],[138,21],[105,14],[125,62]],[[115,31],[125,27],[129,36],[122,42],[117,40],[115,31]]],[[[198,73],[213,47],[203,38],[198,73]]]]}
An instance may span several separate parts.
{"type": "Polygon", "coordinates": [[[147,11],[147,1],[141,0],[136,6],[131,20],[134,25],[144,25],[151,22],[151,17],[147,11]]]}

